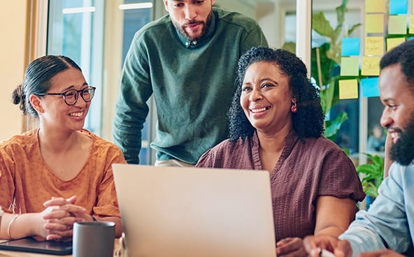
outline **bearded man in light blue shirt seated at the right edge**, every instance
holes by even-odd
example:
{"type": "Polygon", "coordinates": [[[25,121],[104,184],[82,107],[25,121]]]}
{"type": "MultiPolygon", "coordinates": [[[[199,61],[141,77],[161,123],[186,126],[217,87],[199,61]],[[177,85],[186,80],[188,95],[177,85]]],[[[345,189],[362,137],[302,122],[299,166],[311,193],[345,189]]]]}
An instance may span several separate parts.
{"type": "MultiPolygon", "coordinates": [[[[337,257],[400,256],[413,249],[414,239],[414,40],[395,47],[380,61],[379,89],[385,108],[381,125],[392,138],[390,174],[368,212],[360,211],[348,230],[333,237],[306,237],[305,247],[317,247],[337,257]],[[400,254],[397,254],[400,253],[400,254]]],[[[412,254],[412,253],[411,253],[412,254]]]]}

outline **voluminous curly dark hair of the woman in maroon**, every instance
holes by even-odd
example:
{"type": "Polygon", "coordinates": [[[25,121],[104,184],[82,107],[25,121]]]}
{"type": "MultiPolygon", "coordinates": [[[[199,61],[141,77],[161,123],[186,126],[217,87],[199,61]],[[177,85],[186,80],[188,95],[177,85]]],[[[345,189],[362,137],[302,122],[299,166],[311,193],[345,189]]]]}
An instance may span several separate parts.
{"type": "Polygon", "coordinates": [[[238,61],[236,92],[228,113],[229,140],[244,140],[251,137],[255,131],[241,108],[240,97],[245,72],[257,61],[276,64],[289,78],[289,87],[297,103],[297,112],[292,112],[292,124],[299,138],[319,138],[324,131],[324,114],[319,92],[310,83],[305,64],[295,54],[286,50],[252,47],[238,61]]]}

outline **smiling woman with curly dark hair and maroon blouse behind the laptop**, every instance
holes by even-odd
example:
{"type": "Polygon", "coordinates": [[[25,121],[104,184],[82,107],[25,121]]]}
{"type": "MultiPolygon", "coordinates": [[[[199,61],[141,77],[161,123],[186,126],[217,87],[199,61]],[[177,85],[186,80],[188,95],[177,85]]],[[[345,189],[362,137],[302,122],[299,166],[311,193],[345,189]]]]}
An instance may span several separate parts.
{"type": "Polygon", "coordinates": [[[278,256],[306,256],[306,235],[340,235],[364,199],[355,166],[322,136],[324,115],[305,64],[253,47],[238,61],[229,139],[197,167],[269,170],[278,256]]]}

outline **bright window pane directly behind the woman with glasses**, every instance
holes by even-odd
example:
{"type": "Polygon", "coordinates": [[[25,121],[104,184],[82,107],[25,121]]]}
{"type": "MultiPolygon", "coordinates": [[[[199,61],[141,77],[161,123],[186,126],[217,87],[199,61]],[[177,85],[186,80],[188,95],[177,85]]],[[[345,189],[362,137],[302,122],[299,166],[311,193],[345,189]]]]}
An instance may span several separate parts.
{"type": "Polygon", "coordinates": [[[97,87],[85,129],[101,132],[103,0],[49,1],[47,54],[65,55],[82,68],[86,81],[97,87]]]}

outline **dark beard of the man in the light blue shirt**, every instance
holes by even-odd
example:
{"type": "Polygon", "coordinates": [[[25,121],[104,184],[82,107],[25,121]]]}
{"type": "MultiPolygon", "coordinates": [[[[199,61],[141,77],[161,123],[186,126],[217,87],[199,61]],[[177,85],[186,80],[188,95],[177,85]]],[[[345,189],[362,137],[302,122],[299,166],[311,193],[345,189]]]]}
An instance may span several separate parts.
{"type": "Polygon", "coordinates": [[[408,166],[414,160],[414,113],[400,138],[391,146],[391,159],[402,166],[408,166]]]}

